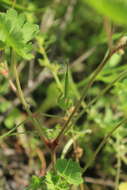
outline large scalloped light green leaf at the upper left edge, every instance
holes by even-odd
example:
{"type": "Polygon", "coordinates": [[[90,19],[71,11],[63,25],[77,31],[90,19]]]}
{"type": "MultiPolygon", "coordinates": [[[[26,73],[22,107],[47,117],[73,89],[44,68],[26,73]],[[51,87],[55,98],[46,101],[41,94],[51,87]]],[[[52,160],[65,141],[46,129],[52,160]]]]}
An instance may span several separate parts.
{"type": "Polygon", "coordinates": [[[17,14],[14,9],[0,13],[0,44],[2,47],[12,48],[24,59],[31,59],[33,55],[32,40],[39,32],[38,25],[26,22],[23,14],[17,14]]]}

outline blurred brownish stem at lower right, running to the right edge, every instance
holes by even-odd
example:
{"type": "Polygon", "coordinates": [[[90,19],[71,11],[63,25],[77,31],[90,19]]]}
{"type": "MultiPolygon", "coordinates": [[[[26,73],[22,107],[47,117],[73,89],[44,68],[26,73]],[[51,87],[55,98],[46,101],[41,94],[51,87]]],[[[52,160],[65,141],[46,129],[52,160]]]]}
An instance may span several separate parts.
{"type": "Polygon", "coordinates": [[[102,147],[106,144],[107,140],[112,136],[112,134],[123,124],[125,124],[127,122],[127,118],[123,119],[120,123],[118,123],[105,137],[104,139],[101,141],[100,145],[97,147],[96,151],[94,152],[93,156],[91,157],[91,159],[87,162],[86,166],[83,169],[83,173],[86,172],[86,170],[91,166],[91,164],[93,163],[93,161],[95,160],[96,156],[98,155],[98,153],[100,152],[100,150],[102,149],[102,147]]]}

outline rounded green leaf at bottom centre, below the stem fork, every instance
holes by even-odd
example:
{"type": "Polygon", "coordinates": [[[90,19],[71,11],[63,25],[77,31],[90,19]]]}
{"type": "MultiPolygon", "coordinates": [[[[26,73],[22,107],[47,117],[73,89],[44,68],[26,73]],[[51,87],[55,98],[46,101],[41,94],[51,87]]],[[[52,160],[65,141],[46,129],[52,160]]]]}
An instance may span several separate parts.
{"type": "Polygon", "coordinates": [[[79,185],[83,182],[81,168],[77,162],[74,162],[71,159],[58,159],[55,167],[58,174],[69,184],[79,185]]]}

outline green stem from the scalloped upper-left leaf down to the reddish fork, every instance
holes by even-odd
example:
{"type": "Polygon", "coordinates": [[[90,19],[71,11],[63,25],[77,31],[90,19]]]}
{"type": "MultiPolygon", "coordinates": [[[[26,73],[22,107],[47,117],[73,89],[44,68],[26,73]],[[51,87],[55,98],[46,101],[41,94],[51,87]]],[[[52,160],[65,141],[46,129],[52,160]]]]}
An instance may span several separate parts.
{"type": "Polygon", "coordinates": [[[18,72],[17,72],[17,68],[16,68],[15,52],[13,50],[12,50],[11,64],[12,64],[12,70],[13,70],[13,73],[14,73],[14,76],[15,76],[15,80],[16,80],[17,94],[19,96],[19,99],[20,99],[22,105],[24,106],[26,112],[28,113],[29,117],[31,118],[32,122],[34,123],[35,128],[38,131],[39,136],[41,137],[41,139],[45,143],[45,139],[43,137],[43,132],[42,132],[42,129],[41,129],[41,125],[36,120],[36,118],[33,117],[32,112],[31,112],[31,110],[29,108],[29,105],[27,104],[27,102],[26,102],[26,100],[24,98],[24,94],[23,94],[22,89],[21,89],[21,85],[20,85],[20,81],[19,81],[19,76],[18,76],[18,72]]]}

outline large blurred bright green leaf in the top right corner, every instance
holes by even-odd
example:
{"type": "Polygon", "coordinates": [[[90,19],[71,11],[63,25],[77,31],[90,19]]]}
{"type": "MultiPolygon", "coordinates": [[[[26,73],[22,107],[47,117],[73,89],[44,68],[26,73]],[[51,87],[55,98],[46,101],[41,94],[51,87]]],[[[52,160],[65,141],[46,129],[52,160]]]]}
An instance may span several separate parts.
{"type": "Polygon", "coordinates": [[[109,17],[118,24],[127,25],[126,0],[84,0],[99,13],[109,17]]]}

